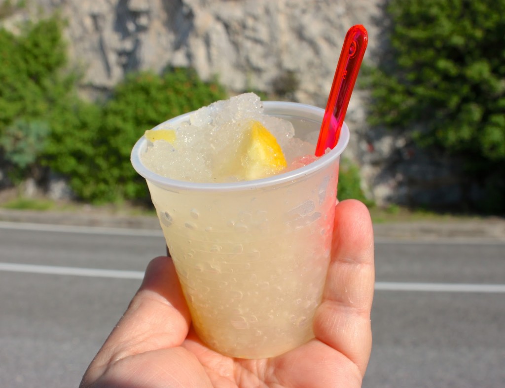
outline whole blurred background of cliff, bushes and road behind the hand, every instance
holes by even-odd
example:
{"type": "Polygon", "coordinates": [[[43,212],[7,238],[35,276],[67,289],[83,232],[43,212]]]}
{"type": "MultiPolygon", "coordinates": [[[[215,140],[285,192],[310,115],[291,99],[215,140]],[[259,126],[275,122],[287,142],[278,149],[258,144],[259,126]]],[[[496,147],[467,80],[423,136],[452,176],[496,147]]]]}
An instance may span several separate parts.
{"type": "Polygon", "coordinates": [[[130,164],[144,131],[245,91],[324,108],[355,24],[369,45],[338,197],[365,202],[376,233],[364,386],[505,386],[504,14],[505,0],[0,0],[0,386],[77,386],[164,253],[130,164]]]}

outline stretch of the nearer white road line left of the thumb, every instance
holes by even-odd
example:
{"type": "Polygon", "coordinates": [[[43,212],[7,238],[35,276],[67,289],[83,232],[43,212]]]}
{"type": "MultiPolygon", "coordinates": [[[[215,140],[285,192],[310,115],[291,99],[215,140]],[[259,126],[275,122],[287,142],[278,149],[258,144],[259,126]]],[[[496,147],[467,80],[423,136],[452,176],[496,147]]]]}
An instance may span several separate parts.
{"type": "Polygon", "coordinates": [[[52,265],[0,263],[0,271],[43,273],[49,275],[73,275],[88,277],[112,277],[116,279],[142,279],[142,271],[122,271],[115,269],[60,267],[52,265]]]}

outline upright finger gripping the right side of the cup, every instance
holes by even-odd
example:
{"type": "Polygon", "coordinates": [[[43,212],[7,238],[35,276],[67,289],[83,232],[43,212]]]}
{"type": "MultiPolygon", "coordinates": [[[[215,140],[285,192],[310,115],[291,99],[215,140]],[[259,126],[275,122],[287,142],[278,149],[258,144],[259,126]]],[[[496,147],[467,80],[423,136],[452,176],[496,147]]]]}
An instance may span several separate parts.
{"type": "Polygon", "coordinates": [[[323,302],[316,312],[316,338],[353,361],[365,374],[372,347],[374,239],[368,209],[359,201],[335,208],[332,258],[323,302]]]}

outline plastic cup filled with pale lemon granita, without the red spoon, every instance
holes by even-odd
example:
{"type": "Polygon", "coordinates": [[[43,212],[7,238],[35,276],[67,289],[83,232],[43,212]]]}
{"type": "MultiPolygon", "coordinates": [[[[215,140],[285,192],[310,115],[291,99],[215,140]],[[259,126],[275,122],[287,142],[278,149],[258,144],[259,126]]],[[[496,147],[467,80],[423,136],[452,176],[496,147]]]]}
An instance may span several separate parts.
{"type": "Polygon", "coordinates": [[[191,325],[214,351],[272,357],[314,337],[349,139],[344,125],[316,158],[323,114],[246,93],[171,118],[133,148],[191,325]]]}

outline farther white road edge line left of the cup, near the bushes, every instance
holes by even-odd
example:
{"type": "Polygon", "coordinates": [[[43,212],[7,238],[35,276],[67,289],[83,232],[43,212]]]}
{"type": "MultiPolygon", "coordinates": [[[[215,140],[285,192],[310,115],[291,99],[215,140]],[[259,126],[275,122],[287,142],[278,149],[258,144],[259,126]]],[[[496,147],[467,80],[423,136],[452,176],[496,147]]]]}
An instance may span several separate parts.
{"type": "Polygon", "coordinates": [[[156,229],[127,229],[127,228],[123,229],[123,228],[108,228],[98,226],[52,225],[52,224],[37,224],[27,222],[7,222],[7,221],[0,221],[0,229],[30,230],[30,231],[57,232],[57,233],[163,237],[162,231],[156,229]]]}

